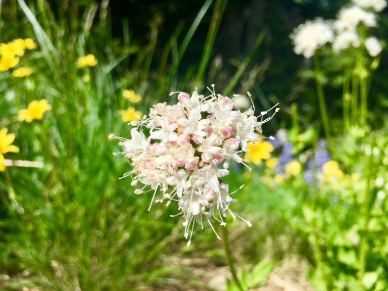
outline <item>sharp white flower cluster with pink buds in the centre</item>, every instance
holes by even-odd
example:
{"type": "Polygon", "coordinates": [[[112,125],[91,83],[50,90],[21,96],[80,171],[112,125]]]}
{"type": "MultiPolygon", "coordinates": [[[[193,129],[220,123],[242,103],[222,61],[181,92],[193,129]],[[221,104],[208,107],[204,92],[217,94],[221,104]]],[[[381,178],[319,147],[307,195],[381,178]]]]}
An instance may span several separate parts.
{"type": "MultiPolygon", "coordinates": [[[[248,152],[248,142],[262,138],[255,131],[261,134],[262,124],[279,110],[276,108],[267,118],[264,116],[268,112],[261,112],[258,120],[254,107],[243,113],[233,110],[233,100],[216,94],[214,85],[208,89],[211,94],[206,97],[196,89],[191,96],[179,92],[175,105],[154,105],[149,117],[131,122],[131,139],[110,136],[119,139],[123,148],[114,155],[123,154],[131,160],[133,170],[124,177],[130,176],[132,185],[144,184],[135,193],[154,192],[149,210],[158,189],[163,196],[155,202],[178,203],[177,215],[185,219],[186,238],[190,229],[192,234],[195,222],[203,227],[204,217],[215,233],[213,217],[221,225],[226,225],[222,217],[228,213],[233,219],[241,218],[229,208],[236,202],[230,197],[235,191],[230,193],[220,178],[229,174],[231,160],[246,165],[241,154],[248,152]]],[[[251,226],[249,221],[246,223],[251,226]]]]}

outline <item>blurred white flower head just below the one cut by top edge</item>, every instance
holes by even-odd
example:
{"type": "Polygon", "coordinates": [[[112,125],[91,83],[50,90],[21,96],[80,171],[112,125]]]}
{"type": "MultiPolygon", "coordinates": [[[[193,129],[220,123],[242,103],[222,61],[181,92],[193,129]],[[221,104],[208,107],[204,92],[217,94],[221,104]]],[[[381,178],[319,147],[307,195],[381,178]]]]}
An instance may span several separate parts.
{"type": "Polygon", "coordinates": [[[355,30],[360,23],[367,27],[374,27],[376,26],[376,15],[358,6],[352,6],[341,9],[333,27],[337,31],[355,30]]]}

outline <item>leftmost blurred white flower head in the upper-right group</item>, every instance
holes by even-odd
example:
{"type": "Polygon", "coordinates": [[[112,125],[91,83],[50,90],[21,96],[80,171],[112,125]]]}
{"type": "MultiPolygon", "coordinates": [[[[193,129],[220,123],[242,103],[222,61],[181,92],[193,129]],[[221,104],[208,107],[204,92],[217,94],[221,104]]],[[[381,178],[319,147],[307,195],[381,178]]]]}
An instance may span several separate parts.
{"type": "Polygon", "coordinates": [[[297,55],[303,54],[308,59],[314,56],[315,51],[324,44],[332,42],[334,33],[329,22],[316,18],[295,28],[290,38],[294,42],[294,52],[297,55]]]}

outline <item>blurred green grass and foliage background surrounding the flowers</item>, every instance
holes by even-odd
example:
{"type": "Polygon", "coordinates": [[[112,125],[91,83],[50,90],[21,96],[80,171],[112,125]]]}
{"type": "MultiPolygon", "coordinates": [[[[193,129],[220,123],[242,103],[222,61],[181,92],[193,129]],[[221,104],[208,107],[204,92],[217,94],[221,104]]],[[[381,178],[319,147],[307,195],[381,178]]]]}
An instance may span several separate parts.
{"type": "MultiPolygon", "coordinates": [[[[302,165],[281,182],[264,161],[252,172],[231,166],[224,179],[229,188],[245,184],[233,209],[253,224],[230,221],[239,276],[260,277],[260,268],[250,272],[264,260],[274,267],[270,275],[262,270],[260,290],[386,290],[387,199],[378,196],[388,190],[386,51],[369,75],[367,124],[350,130],[343,127],[342,68],[333,65],[341,57],[322,53],[319,73],[334,140],[327,153],[346,179],[357,174],[359,180],[338,189],[303,176],[308,160],[317,160],[324,132],[312,60],[293,52],[289,34],[307,19],[334,19],[345,5],[349,1],[0,1],[0,42],[32,38],[38,44],[15,67],[32,68],[31,75],[0,72],[0,130],[15,134],[20,149],[3,154],[44,165],[0,172],[0,289],[233,290],[225,281],[231,276],[222,242],[205,227],[195,229],[186,247],[182,220],[170,217],[177,209],[154,205],[148,212],[151,196],[135,195],[130,178],[119,180],[130,166],[112,155],[119,146],[108,139],[129,136],[119,110],[147,114],[153,104],[175,102],[170,91],[198,87],[206,94],[215,83],[227,95],[250,91],[257,115],[279,103],[264,134],[286,129],[289,158],[302,165]],[[77,68],[88,54],[98,63],[77,68]],[[126,100],[126,89],[141,101],[126,100]],[[52,109],[41,120],[18,120],[20,110],[42,99],[52,109]]],[[[378,24],[373,35],[385,42],[385,11],[378,24]]],[[[280,159],[284,145],[273,157],[280,159]]]]}

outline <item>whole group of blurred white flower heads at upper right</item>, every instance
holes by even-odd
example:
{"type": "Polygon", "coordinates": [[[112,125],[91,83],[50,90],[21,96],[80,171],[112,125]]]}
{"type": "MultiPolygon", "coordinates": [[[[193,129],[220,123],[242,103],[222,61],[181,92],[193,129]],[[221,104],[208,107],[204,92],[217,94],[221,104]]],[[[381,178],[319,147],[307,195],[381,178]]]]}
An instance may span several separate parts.
{"type": "Polygon", "coordinates": [[[386,7],[385,0],[352,0],[354,5],[344,7],[334,21],[316,18],[314,21],[306,21],[294,29],[290,38],[294,42],[294,52],[303,54],[307,59],[314,56],[315,51],[326,43],[332,42],[335,53],[360,47],[363,45],[371,57],[376,57],[381,52],[381,45],[376,37],[363,37],[358,29],[360,26],[377,26],[376,12],[386,7]]]}

